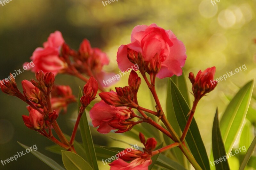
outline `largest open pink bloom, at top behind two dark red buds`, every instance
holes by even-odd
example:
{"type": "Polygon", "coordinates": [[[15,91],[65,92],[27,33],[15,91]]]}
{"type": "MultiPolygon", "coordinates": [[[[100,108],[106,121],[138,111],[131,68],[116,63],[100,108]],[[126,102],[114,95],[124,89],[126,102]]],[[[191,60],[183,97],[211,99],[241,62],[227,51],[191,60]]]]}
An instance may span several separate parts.
{"type": "Polygon", "coordinates": [[[157,73],[157,77],[161,79],[171,77],[174,74],[178,76],[182,74],[181,67],[184,66],[187,58],[186,49],[171,30],[164,30],[156,24],[134,27],[131,43],[121,45],[117,52],[118,67],[122,71],[135,64],[127,58],[128,48],[140,52],[145,62],[150,62],[157,53],[161,63],[161,69],[157,73]]]}

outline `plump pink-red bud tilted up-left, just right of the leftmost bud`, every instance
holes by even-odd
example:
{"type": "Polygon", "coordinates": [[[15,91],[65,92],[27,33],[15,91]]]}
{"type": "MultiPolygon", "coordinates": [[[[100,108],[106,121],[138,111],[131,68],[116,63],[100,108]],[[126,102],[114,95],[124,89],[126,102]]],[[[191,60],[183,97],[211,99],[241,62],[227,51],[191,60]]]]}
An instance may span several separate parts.
{"type": "Polygon", "coordinates": [[[38,103],[38,101],[41,100],[39,89],[35,87],[30,81],[23,80],[21,81],[21,84],[25,97],[34,103],[38,103]]]}

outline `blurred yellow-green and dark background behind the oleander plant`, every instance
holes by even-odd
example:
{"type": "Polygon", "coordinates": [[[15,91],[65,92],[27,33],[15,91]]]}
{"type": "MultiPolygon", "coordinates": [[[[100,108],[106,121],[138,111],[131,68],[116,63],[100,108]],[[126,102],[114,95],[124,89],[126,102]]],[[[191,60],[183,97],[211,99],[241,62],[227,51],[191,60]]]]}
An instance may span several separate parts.
{"type": "MultiPolygon", "coordinates": [[[[104,69],[118,73],[116,52],[121,44],[130,43],[132,28],[136,25],[156,23],[172,32],[183,41],[187,49],[185,74],[195,74],[200,69],[216,66],[216,78],[246,65],[240,71],[220,81],[214,92],[204,97],[198,105],[197,120],[208,154],[211,150],[211,131],[215,109],[224,111],[228,100],[238,87],[255,78],[256,67],[256,0],[220,0],[212,5],[210,0],[118,0],[103,6],[101,0],[13,0],[0,5],[0,78],[22,68],[36,47],[42,46],[50,33],[62,32],[63,37],[73,49],[78,49],[84,38],[90,40],[92,47],[100,47],[107,52],[110,65],[104,69]]],[[[16,77],[16,82],[34,78],[34,73],[24,72],[16,77]]],[[[122,77],[115,86],[127,85],[128,75],[122,77]]],[[[165,103],[167,79],[158,80],[157,91],[165,103]]],[[[57,84],[70,85],[78,94],[78,86],[84,82],[68,76],[58,75],[57,84]]],[[[147,88],[142,84],[139,103],[152,107],[147,88]],[[144,90],[144,91],[143,91],[144,90]]],[[[188,81],[188,88],[191,89],[188,81]]],[[[113,89],[113,87],[112,87],[113,89]]],[[[254,96],[255,96],[254,92],[254,96]]],[[[192,98],[192,95],[190,96],[192,98]]],[[[192,103],[192,102],[191,102],[192,103]]],[[[0,159],[7,159],[24,151],[17,141],[27,146],[35,145],[38,151],[54,158],[61,164],[61,157],[46,151],[51,141],[29,130],[23,124],[21,115],[28,115],[26,104],[15,97],[0,92],[0,159]]],[[[71,134],[72,119],[75,118],[76,104],[71,104],[68,113],[60,115],[58,122],[63,132],[71,134]]],[[[93,130],[94,142],[104,146],[122,146],[109,137],[119,137],[114,133],[101,135],[93,130]]],[[[77,141],[81,141],[79,133],[77,141]]],[[[129,141],[129,139],[125,139],[129,141]]],[[[130,140],[131,143],[136,141],[130,140]]],[[[138,142],[139,144],[139,142],[138,142]]],[[[123,146],[125,147],[125,146],[123,146]]],[[[231,159],[231,158],[230,158],[231,159]]],[[[0,169],[50,169],[32,154],[0,169]]],[[[109,166],[101,165],[101,169],[109,166]]]]}

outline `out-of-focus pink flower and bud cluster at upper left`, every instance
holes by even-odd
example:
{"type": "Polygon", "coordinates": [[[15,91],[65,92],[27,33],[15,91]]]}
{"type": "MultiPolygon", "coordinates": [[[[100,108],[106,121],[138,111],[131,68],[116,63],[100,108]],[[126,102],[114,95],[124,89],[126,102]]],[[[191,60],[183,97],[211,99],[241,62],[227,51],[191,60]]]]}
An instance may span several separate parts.
{"type": "MultiPolygon", "coordinates": [[[[44,73],[52,72],[54,75],[66,73],[85,82],[88,79],[83,74],[95,77],[98,82],[114,76],[114,73],[106,73],[102,70],[102,67],[109,63],[106,53],[99,48],[92,48],[87,39],[80,44],[78,51],[72,50],[65,43],[60,31],[52,33],[47,42],[43,43],[43,48],[38,47],[30,59],[35,63],[35,67],[31,69],[33,72],[42,70],[44,73]]],[[[101,91],[104,91],[101,86],[105,85],[101,83],[99,87],[101,91]]]]}

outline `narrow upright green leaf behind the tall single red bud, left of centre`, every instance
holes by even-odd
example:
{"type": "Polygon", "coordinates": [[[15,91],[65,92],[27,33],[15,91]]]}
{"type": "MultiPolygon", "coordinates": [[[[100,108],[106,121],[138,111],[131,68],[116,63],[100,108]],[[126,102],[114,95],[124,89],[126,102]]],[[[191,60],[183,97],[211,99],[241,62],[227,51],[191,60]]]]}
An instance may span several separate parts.
{"type": "MultiPolygon", "coordinates": [[[[78,94],[78,112],[80,110],[80,98],[82,97],[82,89],[79,87],[79,94],[78,94]]],[[[91,130],[90,130],[90,126],[88,124],[88,120],[86,117],[86,113],[84,112],[80,123],[79,123],[79,127],[80,127],[80,132],[81,132],[81,137],[82,137],[82,141],[83,141],[83,145],[84,145],[84,150],[86,153],[86,158],[85,160],[87,162],[89,162],[89,164],[92,166],[92,168],[94,170],[98,170],[98,164],[97,164],[97,158],[96,158],[96,153],[95,153],[95,149],[94,149],[94,145],[93,145],[93,141],[92,141],[92,134],[91,134],[91,130]]]]}

